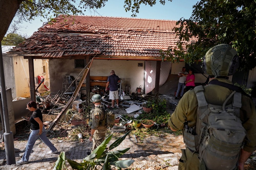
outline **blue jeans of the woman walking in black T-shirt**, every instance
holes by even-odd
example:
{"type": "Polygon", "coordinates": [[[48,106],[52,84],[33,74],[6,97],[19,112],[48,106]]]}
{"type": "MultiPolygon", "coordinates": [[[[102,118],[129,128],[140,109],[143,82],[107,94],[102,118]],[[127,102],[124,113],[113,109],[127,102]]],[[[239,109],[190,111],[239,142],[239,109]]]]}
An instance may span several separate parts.
{"type": "Polygon", "coordinates": [[[52,151],[56,151],[57,149],[53,146],[53,144],[50,142],[50,140],[45,135],[45,128],[43,127],[43,133],[41,135],[37,135],[39,133],[38,130],[31,130],[32,132],[29,135],[28,143],[26,146],[26,151],[24,155],[22,156],[22,161],[27,162],[29,160],[29,156],[31,153],[31,150],[33,149],[33,146],[38,139],[38,137],[45,143],[46,146],[48,146],[52,151]]]}

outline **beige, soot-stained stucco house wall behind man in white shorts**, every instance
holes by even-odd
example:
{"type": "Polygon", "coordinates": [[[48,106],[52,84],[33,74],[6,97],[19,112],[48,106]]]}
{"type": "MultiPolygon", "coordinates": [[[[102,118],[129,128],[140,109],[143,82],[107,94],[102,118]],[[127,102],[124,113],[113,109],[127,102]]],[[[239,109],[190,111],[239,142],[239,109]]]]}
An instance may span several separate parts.
{"type": "MultiPolygon", "coordinates": [[[[122,88],[125,89],[128,84],[131,92],[135,92],[137,87],[144,84],[144,65],[144,61],[93,60],[90,76],[109,76],[110,71],[114,70],[122,80],[122,88]],[[138,67],[138,63],[142,63],[142,67],[138,67]]],[[[49,72],[52,80],[51,93],[57,93],[58,90],[62,90],[63,77],[72,75],[76,78],[81,69],[74,69],[74,60],[53,59],[49,60],[49,72]]]]}

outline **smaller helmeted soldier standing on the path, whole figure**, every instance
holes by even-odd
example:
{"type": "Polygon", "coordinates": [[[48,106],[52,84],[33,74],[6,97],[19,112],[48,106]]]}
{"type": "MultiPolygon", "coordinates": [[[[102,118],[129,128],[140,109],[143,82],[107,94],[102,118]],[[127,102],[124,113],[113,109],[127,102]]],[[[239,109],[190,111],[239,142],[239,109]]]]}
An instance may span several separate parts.
{"type": "MultiPolygon", "coordinates": [[[[91,98],[92,103],[95,108],[91,110],[91,118],[89,121],[89,126],[91,126],[91,133],[89,140],[93,141],[92,150],[96,149],[105,139],[107,132],[107,122],[105,108],[101,104],[102,97],[99,94],[95,94],[91,98]],[[93,138],[92,138],[93,137],[93,138]]],[[[89,155],[91,152],[88,151],[89,155]]]]}

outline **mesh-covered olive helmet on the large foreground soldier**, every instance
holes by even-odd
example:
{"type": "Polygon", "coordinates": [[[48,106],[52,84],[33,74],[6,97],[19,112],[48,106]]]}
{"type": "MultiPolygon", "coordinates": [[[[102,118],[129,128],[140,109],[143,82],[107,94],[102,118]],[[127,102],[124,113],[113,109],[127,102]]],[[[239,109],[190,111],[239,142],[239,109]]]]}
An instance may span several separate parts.
{"type": "Polygon", "coordinates": [[[203,60],[204,73],[215,77],[233,75],[239,66],[237,51],[228,44],[210,48],[203,60]]]}

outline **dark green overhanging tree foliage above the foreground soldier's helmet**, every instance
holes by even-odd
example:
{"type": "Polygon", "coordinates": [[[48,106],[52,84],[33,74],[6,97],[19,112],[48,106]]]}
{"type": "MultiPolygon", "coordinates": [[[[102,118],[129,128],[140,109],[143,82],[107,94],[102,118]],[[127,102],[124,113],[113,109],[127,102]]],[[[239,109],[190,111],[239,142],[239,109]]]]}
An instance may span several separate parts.
{"type": "Polygon", "coordinates": [[[172,53],[169,50],[169,55],[162,51],[162,57],[173,62],[181,57],[192,63],[202,59],[209,48],[225,43],[238,51],[239,69],[251,70],[256,66],[255,20],[256,1],[201,0],[193,6],[189,19],[177,22],[177,48],[172,53]],[[192,37],[198,40],[193,41],[192,37]]]}

